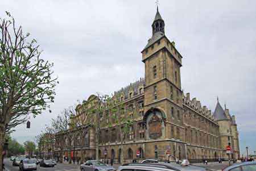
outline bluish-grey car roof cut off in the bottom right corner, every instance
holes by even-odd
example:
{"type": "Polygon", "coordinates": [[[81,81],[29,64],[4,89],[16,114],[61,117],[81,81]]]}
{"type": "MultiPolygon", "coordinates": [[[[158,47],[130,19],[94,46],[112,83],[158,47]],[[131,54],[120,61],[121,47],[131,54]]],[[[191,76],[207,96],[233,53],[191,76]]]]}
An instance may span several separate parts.
{"type": "Polygon", "coordinates": [[[223,171],[256,171],[256,161],[247,161],[233,164],[223,171]]]}

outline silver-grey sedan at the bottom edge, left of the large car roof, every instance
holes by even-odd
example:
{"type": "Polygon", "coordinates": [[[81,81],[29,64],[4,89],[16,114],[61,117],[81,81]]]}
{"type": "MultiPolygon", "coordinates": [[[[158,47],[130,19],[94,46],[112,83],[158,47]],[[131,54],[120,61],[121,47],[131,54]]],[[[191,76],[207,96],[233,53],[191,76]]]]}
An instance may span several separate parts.
{"type": "Polygon", "coordinates": [[[112,171],[115,170],[112,166],[104,164],[99,160],[88,160],[85,164],[80,165],[80,170],[82,171],[103,171],[108,170],[112,171]]]}

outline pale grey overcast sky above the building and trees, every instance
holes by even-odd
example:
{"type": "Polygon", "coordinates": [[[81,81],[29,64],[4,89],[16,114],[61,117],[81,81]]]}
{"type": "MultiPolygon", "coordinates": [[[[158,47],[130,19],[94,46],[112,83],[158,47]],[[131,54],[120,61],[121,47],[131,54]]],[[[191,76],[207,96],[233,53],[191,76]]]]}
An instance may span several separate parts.
{"type": "MultiPolygon", "coordinates": [[[[160,0],[166,35],[183,55],[181,86],[214,111],[217,96],[236,115],[242,153],[256,150],[256,1],[160,0]]],[[[154,0],[0,0],[23,32],[55,63],[60,84],[52,113],[12,135],[33,140],[51,118],[90,94],[110,94],[144,77],[141,51],[151,37],[154,0]]]]}

